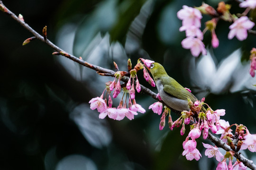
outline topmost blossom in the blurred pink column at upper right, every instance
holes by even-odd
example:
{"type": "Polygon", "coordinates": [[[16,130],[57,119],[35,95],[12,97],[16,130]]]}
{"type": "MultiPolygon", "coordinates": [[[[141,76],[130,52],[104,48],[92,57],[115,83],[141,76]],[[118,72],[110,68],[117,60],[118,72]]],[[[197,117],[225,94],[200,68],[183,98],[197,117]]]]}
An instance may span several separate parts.
{"type": "Polygon", "coordinates": [[[201,27],[201,12],[192,7],[183,5],[183,9],[177,12],[177,17],[182,20],[182,25],[186,27],[196,26],[201,27]]]}

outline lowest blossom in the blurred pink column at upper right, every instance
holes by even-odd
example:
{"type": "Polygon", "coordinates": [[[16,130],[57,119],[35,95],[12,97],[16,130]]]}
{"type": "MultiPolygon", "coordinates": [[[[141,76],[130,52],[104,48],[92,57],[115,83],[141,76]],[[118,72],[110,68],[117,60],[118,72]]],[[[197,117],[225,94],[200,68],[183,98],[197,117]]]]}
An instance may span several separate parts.
{"type": "Polygon", "coordinates": [[[198,57],[200,53],[203,55],[207,54],[205,46],[199,38],[187,37],[181,42],[181,44],[184,49],[190,49],[194,57],[198,57]]]}

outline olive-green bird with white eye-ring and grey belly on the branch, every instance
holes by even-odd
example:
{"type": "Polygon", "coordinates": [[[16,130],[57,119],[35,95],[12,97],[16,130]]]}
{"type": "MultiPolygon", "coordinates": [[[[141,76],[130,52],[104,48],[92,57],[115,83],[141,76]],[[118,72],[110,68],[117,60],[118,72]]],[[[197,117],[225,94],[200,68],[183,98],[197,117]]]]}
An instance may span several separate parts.
{"type": "Polygon", "coordinates": [[[188,99],[192,102],[198,99],[172,77],[168,76],[165,68],[154,62],[150,65],[150,72],[155,80],[158,93],[162,100],[171,108],[178,111],[190,110],[188,99]]]}

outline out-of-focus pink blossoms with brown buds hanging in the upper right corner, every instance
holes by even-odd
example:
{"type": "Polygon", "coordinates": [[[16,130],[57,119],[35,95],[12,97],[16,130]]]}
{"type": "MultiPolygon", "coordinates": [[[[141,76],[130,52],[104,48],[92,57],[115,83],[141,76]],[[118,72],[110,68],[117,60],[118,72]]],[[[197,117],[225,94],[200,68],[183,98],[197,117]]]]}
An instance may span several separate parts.
{"type": "MultiPolygon", "coordinates": [[[[255,0],[245,0],[240,3],[239,6],[242,8],[254,9],[256,2],[255,0]]],[[[229,39],[232,39],[235,36],[239,41],[247,39],[247,30],[252,29],[252,27],[255,25],[254,22],[250,21],[250,19],[246,16],[248,9],[246,9],[246,11],[240,15],[241,17],[238,18],[236,15],[230,14],[230,8],[231,5],[225,4],[223,1],[219,2],[217,10],[205,3],[203,3],[200,7],[195,8],[184,5],[183,9],[177,12],[177,17],[182,20],[180,31],[185,31],[186,33],[186,38],[181,42],[183,48],[190,49],[192,55],[195,57],[198,57],[200,53],[205,55],[207,52],[202,40],[203,34],[205,34],[207,30],[209,30],[211,33],[212,47],[217,48],[219,46],[219,39],[215,34],[215,29],[219,19],[228,22],[233,21],[233,24],[229,26],[229,39]],[[203,31],[200,30],[202,18],[201,14],[207,14],[212,17],[211,20],[205,23],[205,29],[203,31]]]]}

